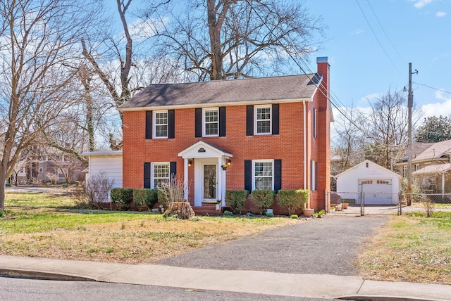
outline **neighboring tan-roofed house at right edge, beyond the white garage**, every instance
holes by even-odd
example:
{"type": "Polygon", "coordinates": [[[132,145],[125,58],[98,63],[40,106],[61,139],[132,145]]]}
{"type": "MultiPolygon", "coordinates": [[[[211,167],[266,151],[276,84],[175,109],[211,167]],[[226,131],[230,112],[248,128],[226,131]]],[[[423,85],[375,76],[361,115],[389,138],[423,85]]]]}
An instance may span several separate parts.
{"type": "MultiPolygon", "coordinates": [[[[428,148],[412,158],[412,179],[423,192],[450,193],[451,140],[428,144],[428,148]]],[[[407,162],[398,165],[407,172],[407,162]]]]}

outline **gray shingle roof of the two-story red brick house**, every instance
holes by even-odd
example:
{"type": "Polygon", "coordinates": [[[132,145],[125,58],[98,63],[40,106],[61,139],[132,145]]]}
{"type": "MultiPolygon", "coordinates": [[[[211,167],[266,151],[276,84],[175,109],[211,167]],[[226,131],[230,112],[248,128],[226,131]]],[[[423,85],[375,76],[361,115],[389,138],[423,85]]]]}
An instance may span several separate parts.
{"type": "Polygon", "coordinates": [[[182,84],[152,84],[121,105],[122,110],[310,99],[321,75],[288,75],[182,84]]]}

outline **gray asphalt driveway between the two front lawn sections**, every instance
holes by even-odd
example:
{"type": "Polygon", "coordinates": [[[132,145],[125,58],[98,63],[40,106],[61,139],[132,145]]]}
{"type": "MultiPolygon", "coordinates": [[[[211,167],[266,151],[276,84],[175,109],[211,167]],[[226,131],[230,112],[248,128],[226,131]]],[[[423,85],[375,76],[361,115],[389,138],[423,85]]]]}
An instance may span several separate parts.
{"type": "Polygon", "coordinates": [[[359,246],[388,216],[331,215],[265,231],[160,264],[204,269],[274,271],[293,274],[357,275],[352,262],[359,246]]]}

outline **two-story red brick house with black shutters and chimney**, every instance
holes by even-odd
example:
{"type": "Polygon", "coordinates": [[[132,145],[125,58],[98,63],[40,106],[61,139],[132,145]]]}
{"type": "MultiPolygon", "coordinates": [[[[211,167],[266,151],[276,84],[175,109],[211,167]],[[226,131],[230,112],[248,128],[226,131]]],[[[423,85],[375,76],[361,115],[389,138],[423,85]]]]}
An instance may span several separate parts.
{"type": "MultiPolygon", "coordinates": [[[[123,187],[154,188],[176,175],[197,213],[214,211],[216,200],[225,206],[226,190],[304,188],[309,207],[324,209],[332,121],[327,57],[317,66],[309,75],[143,89],[121,106],[123,187]]],[[[244,211],[257,211],[250,198],[244,211]]]]}

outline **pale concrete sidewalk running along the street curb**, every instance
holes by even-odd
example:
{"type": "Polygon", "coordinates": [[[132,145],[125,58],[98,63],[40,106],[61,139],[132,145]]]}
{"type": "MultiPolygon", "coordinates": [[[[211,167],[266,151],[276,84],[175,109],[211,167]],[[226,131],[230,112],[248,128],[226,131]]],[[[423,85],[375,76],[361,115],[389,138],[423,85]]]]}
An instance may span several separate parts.
{"type": "Polygon", "coordinates": [[[101,281],[348,300],[450,300],[451,286],[366,281],[358,276],[284,274],[0,256],[0,275],[101,281]]]}

